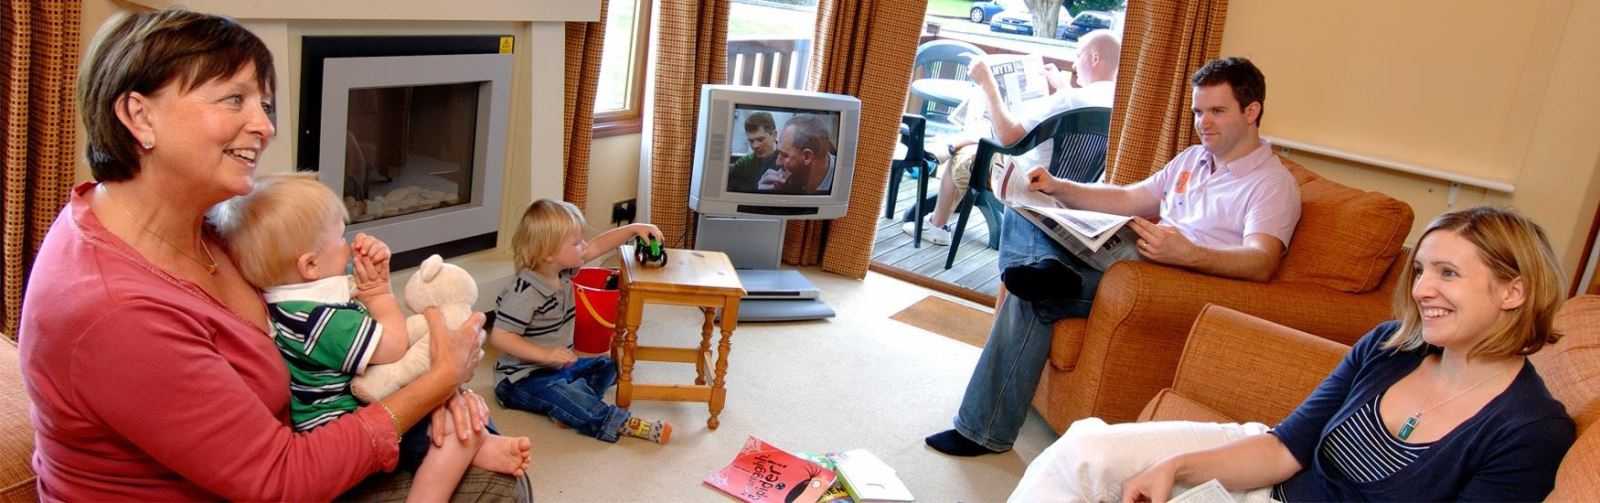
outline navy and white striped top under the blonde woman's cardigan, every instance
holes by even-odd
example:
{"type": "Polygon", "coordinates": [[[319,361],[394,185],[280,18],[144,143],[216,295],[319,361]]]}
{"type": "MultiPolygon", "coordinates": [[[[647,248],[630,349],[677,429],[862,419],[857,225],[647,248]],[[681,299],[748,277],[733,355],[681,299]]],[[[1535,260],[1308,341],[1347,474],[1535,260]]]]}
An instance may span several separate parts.
{"type": "Polygon", "coordinates": [[[1328,433],[1322,442],[1322,461],[1330,474],[1344,474],[1350,482],[1376,482],[1406,468],[1427,450],[1427,444],[1395,439],[1378,415],[1378,394],[1328,433]]]}

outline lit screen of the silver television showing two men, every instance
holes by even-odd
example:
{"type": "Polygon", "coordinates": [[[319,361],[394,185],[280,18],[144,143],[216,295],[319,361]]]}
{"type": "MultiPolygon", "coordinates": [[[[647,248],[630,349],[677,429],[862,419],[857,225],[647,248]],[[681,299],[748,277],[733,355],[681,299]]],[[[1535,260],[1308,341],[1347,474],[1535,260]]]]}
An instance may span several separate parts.
{"type": "Polygon", "coordinates": [[[734,104],[726,191],[832,194],[838,120],[837,111],[734,104]]]}

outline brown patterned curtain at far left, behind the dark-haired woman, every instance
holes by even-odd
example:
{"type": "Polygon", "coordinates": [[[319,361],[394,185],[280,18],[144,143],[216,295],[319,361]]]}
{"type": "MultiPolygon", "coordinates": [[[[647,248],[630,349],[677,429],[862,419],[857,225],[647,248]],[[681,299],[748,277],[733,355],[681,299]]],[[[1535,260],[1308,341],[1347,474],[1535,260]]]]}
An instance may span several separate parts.
{"type": "Polygon", "coordinates": [[[16,338],[22,287],[45,231],[72,191],[77,0],[0,3],[0,155],[5,155],[5,325],[16,338]]]}

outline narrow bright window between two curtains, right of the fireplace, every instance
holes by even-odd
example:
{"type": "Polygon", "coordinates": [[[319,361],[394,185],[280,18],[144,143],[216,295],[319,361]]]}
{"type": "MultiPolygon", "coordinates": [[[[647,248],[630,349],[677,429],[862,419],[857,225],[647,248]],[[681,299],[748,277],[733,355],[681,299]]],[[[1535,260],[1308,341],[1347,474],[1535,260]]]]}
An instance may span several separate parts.
{"type": "Polygon", "coordinates": [[[638,133],[645,95],[645,50],[650,2],[611,0],[605,19],[600,83],[595,91],[595,136],[638,133]]]}

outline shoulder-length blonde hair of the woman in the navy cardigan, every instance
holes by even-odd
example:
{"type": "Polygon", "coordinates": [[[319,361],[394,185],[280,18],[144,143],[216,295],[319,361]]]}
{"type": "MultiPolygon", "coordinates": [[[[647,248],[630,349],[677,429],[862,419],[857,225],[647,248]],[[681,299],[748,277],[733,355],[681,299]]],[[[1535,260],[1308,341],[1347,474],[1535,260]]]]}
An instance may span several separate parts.
{"type": "MultiPolygon", "coordinates": [[[[1526,298],[1522,306],[1510,309],[1509,316],[1490,328],[1490,335],[1469,356],[1526,356],[1562,338],[1550,328],[1555,311],[1566,301],[1562,268],[1539,224],[1510,208],[1456,210],[1434,218],[1418,239],[1418,248],[1435,231],[1451,231],[1470,242],[1496,280],[1523,282],[1526,298]]],[[[1410,287],[1418,276],[1416,248],[1411,248],[1400,274],[1403,282],[1394,293],[1400,330],[1384,341],[1384,349],[1411,351],[1424,344],[1422,312],[1411,298],[1410,287]]]]}

